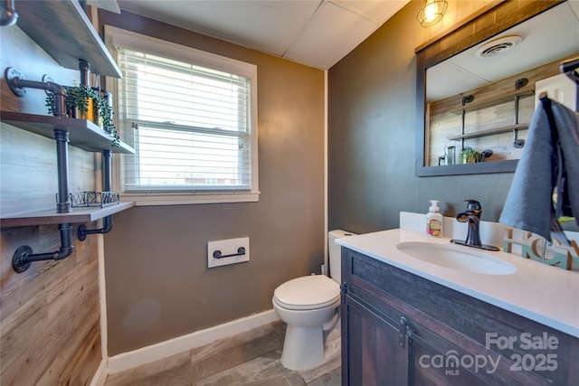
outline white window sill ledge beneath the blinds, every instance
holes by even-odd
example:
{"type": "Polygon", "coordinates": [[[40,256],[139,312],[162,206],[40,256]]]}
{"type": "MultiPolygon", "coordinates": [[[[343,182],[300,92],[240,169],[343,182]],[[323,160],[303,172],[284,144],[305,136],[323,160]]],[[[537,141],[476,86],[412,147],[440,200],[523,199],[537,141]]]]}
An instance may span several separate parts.
{"type": "Polygon", "coordinates": [[[136,206],[189,205],[196,203],[259,202],[259,192],[246,193],[121,193],[136,206]]]}

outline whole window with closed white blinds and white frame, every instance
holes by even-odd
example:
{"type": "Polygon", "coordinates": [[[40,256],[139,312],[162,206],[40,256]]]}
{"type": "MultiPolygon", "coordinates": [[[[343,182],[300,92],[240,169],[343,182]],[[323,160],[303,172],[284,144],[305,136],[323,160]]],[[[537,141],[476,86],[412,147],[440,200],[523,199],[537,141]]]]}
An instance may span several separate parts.
{"type": "MultiPolygon", "coordinates": [[[[257,201],[257,69],[105,29],[115,80],[119,183],[138,204],[257,201]]],[[[107,85],[109,87],[109,84],[107,85]]]]}

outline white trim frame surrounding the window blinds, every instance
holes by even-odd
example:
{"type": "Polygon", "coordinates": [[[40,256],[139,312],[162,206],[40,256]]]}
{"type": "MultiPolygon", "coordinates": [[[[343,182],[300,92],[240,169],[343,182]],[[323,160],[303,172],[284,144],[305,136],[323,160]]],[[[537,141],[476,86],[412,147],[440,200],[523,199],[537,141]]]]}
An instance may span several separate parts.
{"type": "MultiPolygon", "coordinates": [[[[123,200],[135,201],[137,205],[171,205],[220,202],[258,202],[259,201],[259,165],[258,165],[258,117],[257,117],[257,66],[252,63],[223,57],[211,52],[204,52],[174,42],[163,41],[140,33],[133,33],[105,25],[105,43],[113,58],[117,58],[116,46],[132,50],[151,52],[176,61],[186,61],[208,69],[225,71],[246,76],[250,79],[250,126],[251,146],[251,188],[236,190],[231,187],[164,192],[162,190],[142,190],[126,192],[122,175],[122,159],[125,155],[113,157],[112,188],[122,194],[123,200]]],[[[106,88],[112,93],[115,110],[118,110],[118,79],[107,77],[106,88]]],[[[118,121],[117,121],[118,124],[118,121]]],[[[122,130],[119,130],[122,133],[122,130]]],[[[122,138],[121,138],[122,139],[122,138]]]]}

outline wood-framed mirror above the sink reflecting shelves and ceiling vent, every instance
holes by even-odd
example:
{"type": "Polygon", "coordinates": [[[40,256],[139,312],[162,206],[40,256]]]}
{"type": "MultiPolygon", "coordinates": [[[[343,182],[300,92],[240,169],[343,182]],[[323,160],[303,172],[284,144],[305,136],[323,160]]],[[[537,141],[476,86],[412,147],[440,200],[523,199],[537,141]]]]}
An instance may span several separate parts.
{"type": "Polygon", "coordinates": [[[502,2],[417,48],[416,175],[515,171],[536,80],[579,54],[572,3],[502,2]]]}

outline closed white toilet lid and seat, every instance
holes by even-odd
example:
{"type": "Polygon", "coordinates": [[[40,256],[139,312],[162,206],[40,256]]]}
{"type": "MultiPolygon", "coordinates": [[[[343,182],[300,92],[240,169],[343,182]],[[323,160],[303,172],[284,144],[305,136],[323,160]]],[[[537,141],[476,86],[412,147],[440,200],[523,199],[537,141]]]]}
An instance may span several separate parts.
{"type": "Polygon", "coordinates": [[[273,292],[275,301],[289,309],[315,309],[336,303],[340,297],[340,287],[324,275],[294,278],[273,292]]]}

